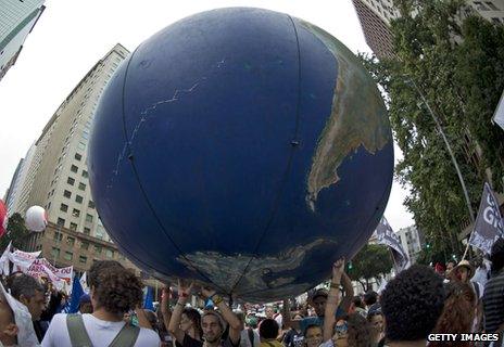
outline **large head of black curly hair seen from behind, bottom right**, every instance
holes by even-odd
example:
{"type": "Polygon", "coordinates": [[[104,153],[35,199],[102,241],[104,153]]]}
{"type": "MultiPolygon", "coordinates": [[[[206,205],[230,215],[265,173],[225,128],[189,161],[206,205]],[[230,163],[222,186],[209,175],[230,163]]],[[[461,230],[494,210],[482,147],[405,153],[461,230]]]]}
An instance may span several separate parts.
{"type": "Polygon", "coordinates": [[[387,284],[381,295],[388,346],[426,346],[444,306],[443,279],[414,265],[387,284]]]}

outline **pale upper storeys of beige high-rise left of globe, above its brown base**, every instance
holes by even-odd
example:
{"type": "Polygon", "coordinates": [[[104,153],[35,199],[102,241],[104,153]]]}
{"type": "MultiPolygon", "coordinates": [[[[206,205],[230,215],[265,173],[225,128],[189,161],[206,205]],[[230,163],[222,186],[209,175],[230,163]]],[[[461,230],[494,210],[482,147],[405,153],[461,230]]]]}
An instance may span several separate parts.
{"type": "Polygon", "coordinates": [[[87,145],[92,117],[103,89],[129,52],[116,44],[79,81],[37,140],[27,204],[48,211],[49,221],[109,240],[88,182],[87,145]]]}

